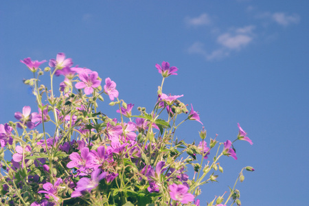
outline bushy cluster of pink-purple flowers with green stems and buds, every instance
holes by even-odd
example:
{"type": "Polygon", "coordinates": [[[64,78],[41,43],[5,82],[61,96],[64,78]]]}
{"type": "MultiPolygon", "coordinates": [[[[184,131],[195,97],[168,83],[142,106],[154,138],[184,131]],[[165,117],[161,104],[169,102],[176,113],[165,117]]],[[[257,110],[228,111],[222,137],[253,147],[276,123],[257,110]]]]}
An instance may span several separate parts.
{"type": "MultiPolygon", "coordinates": [[[[71,58],[63,53],[49,60],[49,67],[43,70],[39,67],[46,60],[25,58],[21,62],[34,73],[35,78],[24,82],[34,88],[38,109],[32,113],[30,106],[24,106],[22,113],[14,114],[18,121],[0,124],[3,205],[198,206],[201,185],[216,181],[218,168],[222,172],[218,159],[237,159],[237,140],[252,144],[239,124],[234,141],[210,138],[207,146],[205,128],[199,144],[177,139],[176,130],[185,121],[203,123],[192,104],[189,112],[188,104],[179,100],[183,95],[162,93],[164,79],[178,71],[168,62],[155,65],[163,80],[154,109],[147,113],[146,108],[138,107],[137,114],[134,104],[118,99],[111,78],[102,87],[98,72],[73,67],[71,58]],[[53,87],[38,87],[44,72],[49,72],[51,82],[55,76],[63,76],[58,97],[53,87]],[[112,101],[109,105],[118,106],[114,109],[117,118],[98,110],[103,93],[112,101]],[[168,119],[162,118],[164,113],[168,119]],[[47,127],[53,132],[47,133],[47,127]],[[211,152],[217,146],[217,151],[223,146],[221,152],[211,152]],[[12,152],[12,159],[3,158],[4,148],[12,152]],[[214,161],[203,163],[209,155],[214,155],[214,161]],[[187,172],[190,167],[194,176],[187,172]]],[[[249,166],[244,169],[254,171],[249,166]]],[[[242,170],[240,181],[244,179],[242,170]]],[[[223,206],[224,200],[224,205],[229,201],[240,205],[239,197],[234,187],[229,196],[218,196],[208,205],[223,206]]]]}

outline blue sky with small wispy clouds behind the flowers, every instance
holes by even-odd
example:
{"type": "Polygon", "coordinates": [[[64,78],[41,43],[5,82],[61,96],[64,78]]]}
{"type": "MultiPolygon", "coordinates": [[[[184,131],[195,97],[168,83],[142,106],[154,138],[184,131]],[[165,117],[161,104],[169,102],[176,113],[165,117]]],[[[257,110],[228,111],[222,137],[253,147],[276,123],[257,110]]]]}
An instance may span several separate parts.
{"type": "MultiPolygon", "coordinates": [[[[227,191],[247,165],[256,171],[237,186],[242,205],[304,205],[308,8],[309,1],[1,1],[0,124],[15,121],[25,105],[35,108],[21,81],[32,75],[23,58],[64,52],[148,111],[161,84],[155,64],[168,61],[179,71],[163,92],[193,104],[208,138],[236,138],[239,122],[254,143],[236,143],[238,160],[222,161],[225,173],[202,188],[202,205],[227,191]]],[[[111,113],[105,100],[101,110],[111,113]]],[[[201,124],[188,122],[177,136],[198,141],[198,130],[201,124]]]]}

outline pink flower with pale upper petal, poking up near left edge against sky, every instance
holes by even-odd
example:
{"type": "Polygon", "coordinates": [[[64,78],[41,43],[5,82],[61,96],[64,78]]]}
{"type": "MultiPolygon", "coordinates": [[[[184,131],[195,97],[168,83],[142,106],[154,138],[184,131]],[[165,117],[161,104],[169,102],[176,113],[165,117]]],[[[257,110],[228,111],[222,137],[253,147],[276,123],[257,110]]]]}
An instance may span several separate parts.
{"type": "MultiPolygon", "coordinates": [[[[38,113],[31,113],[31,107],[30,106],[24,106],[23,107],[23,113],[16,112],[14,117],[16,119],[20,120],[20,123],[23,125],[27,125],[28,128],[33,129],[38,124],[35,124],[35,122],[40,121],[38,118],[38,113]]],[[[19,128],[21,128],[20,124],[17,124],[19,128]]]]}

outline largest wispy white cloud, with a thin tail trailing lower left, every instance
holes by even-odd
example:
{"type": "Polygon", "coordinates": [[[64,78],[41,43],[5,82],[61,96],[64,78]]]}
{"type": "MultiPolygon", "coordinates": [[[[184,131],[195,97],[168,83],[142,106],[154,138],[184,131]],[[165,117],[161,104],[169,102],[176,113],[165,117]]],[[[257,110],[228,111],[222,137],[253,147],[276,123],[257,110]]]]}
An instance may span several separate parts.
{"type": "Polygon", "coordinates": [[[220,34],[217,36],[216,41],[218,43],[218,48],[211,52],[207,52],[204,48],[203,43],[196,42],[192,44],[187,52],[189,54],[199,54],[203,56],[206,60],[216,60],[229,56],[233,51],[240,51],[240,49],[247,47],[249,43],[253,41],[254,30],[253,25],[246,27],[233,28],[228,32],[220,34]]]}

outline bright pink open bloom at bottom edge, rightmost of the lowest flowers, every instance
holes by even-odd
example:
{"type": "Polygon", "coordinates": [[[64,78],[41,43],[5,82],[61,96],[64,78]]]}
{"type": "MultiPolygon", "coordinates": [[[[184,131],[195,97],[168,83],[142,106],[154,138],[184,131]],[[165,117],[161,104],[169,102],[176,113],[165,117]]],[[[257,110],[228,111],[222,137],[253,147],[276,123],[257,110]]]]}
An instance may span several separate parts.
{"type": "Polygon", "coordinates": [[[185,185],[176,185],[173,183],[168,186],[168,189],[170,190],[170,197],[174,201],[180,201],[183,204],[194,201],[194,195],[187,192],[189,188],[185,185]]]}

